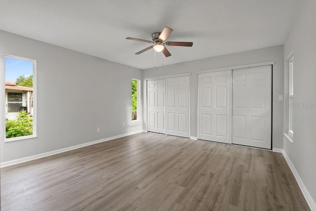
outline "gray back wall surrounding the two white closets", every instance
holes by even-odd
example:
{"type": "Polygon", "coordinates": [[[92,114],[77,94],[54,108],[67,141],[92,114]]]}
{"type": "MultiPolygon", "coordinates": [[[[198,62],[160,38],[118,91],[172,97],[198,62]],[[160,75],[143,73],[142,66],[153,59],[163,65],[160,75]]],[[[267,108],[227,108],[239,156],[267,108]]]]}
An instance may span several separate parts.
{"type": "MultiPolygon", "coordinates": [[[[167,76],[191,72],[190,76],[190,127],[191,136],[197,137],[197,71],[224,67],[232,67],[245,64],[275,61],[273,66],[273,147],[283,148],[283,102],[278,101],[278,95],[283,94],[283,46],[273,46],[199,59],[191,62],[162,66],[144,70],[144,85],[146,78],[167,76]]],[[[145,88],[145,87],[144,87],[145,88]]],[[[146,89],[143,89],[143,115],[146,117],[146,89]]],[[[146,129],[146,118],[144,118],[146,129]]]]}

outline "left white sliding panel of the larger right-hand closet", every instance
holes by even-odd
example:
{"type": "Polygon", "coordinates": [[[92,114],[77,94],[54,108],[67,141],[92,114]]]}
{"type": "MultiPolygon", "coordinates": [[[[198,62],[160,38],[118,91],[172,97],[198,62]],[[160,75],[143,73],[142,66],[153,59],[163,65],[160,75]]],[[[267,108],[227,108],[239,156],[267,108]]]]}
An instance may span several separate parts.
{"type": "Polygon", "coordinates": [[[232,71],[198,74],[198,138],[231,143],[232,71]]]}

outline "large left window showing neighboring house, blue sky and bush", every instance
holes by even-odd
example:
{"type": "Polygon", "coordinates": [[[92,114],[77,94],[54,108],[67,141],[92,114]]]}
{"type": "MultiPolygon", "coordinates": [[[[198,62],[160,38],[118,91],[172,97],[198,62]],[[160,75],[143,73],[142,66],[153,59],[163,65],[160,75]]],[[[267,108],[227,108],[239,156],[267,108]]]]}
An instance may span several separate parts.
{"type": "Polygon", "coordinates": [[[35,72],[35,60],[4,57],[5,141],[36,136],[35,72]]]}

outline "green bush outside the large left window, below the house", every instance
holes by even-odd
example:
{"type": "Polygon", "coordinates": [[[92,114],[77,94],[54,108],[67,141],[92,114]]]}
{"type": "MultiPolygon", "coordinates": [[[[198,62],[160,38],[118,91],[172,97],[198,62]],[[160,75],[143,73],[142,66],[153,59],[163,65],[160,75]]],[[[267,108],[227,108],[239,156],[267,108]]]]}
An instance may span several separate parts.
{"type": "Polygon", "coordinates": [[[20,111],[16,120],[5,122],[5,137],[14,138],[33,134],[33,118],[26,111],[20,111]]]}

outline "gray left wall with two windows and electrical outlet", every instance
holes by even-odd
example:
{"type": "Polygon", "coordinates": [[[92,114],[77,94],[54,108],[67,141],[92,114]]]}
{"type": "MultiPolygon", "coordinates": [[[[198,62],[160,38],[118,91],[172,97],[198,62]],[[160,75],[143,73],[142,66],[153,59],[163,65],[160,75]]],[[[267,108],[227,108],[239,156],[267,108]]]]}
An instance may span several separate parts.
{"type": "Polygon", "coordinates": [[[0,31],[1,162],[141,130],[131,122],[132,78],[142,71],[0,31]],[[4,143],[4,54],[37,61],[37,138],[4,143]]]}

